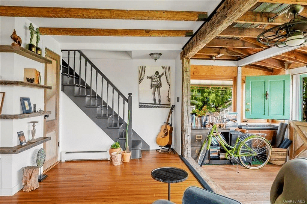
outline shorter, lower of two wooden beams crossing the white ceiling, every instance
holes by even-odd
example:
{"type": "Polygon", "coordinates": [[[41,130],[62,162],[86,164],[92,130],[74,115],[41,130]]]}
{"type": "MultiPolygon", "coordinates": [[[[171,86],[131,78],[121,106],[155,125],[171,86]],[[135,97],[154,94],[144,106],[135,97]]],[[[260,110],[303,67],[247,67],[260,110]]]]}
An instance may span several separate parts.
{"type": "Polygon", "coordinates": [[[133,36],[133,37],[191,37],[193,30],[141,30],[91,28],[39,28],[41,35],[68,36],[133,36]]]}

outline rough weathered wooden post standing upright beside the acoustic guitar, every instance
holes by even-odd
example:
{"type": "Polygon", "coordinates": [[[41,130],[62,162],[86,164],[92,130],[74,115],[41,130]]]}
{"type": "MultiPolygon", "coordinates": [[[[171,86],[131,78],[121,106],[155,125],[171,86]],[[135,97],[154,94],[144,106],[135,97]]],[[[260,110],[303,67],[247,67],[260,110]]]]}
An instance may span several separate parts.
{"type": "Polygon", "coordinates": [[[190,59],[182,58],[182,119],[181,119],[181,138],[182,150],[181,155],[191,157],[191,75],[190,75],[190,59]]]}

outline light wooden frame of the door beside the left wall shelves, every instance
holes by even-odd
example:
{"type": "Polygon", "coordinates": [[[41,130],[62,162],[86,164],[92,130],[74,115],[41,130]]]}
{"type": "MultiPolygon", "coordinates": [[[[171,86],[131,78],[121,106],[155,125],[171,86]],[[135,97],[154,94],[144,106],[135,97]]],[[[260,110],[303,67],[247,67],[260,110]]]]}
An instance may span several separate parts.
{"type": "MultiPolygon", "coordinates": [[[[45,57],[47,56],[47,52],[48,52],[48,57],[55,60],[56,63],[56,119],[54,120],[50,120],[49,122],[52,122],[52,125],[55,126],[55,131],[56,131],[56,137],[57,140],[59,140],[59,117],[60,117],[60,112],[59,112],[59,100],[60,100],[60,60],[61,60],[61,56],[56,54],[55,52],[53,52],[52,50],[45,48],[45,57]]],[[[47,84],[47,66],[48,64],[45,64],[45,85],[47,84]]],[[[46,98],[46,94],[47,94],[47,90],[44,91],[44,110],[46,110],[46,104],[45,104],[45,98],[46,98]]],[[[44,120],[44,135],[46,135],[47,133],[47,125],[45,124],[46,120],[44,120]]],[[[46,143],[44,143],[44,149],[46,148],[46,143]]],[[[52,162],[52,163],[56,163],[59,160],[59,148],[58,145],[56,145],[56,154],[57,154],[57,158],[56,161],[52,162]]],[[[45,166],[45,164],[44,164],[45,166]]],[[[49,166],[52,166],[49,165],[49,166]]],[[[47,167],[48,168],[48,167],[47,167]]],[[[46,167],[43,167],[43,170],[46,170],[46,167]]]]}

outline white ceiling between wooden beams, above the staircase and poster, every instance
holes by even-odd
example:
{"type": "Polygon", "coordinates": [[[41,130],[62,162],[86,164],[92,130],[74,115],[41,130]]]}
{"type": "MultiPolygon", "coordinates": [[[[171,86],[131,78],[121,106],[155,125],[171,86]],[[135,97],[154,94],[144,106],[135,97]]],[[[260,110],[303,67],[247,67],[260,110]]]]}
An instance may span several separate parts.
{"type": "MultiPolygon", "coordinates": [[[[208,16],[221,0],[67,0],[29,1],[1,0],[5,6],[76,7],[123,10],[206,11],[208,16]]],[[[115,19],[28,18],[39,27],[105,28],[105,29],[167,29],[196,30],[197,21],[147,21],[115,19]]],[[[111,36],[52,36],[62,48],[84,50],[130,51],[133,59],[150,59],[151,52],[161,50],[160,59],[175,59],[190,37],[111,37],[111,36]],[[112,46],[114,44],[114,46],[112,46]]]]}

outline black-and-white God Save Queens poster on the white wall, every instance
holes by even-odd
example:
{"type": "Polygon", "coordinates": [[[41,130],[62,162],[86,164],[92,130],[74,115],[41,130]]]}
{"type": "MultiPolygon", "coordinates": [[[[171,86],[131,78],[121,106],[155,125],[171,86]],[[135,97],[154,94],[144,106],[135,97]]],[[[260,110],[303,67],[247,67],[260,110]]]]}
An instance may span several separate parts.
{"type": "Polygon", "coordinates": [[[170,67],[139,66],[139,108],[170,108],[170,67]]]}

